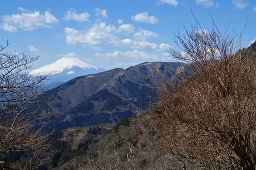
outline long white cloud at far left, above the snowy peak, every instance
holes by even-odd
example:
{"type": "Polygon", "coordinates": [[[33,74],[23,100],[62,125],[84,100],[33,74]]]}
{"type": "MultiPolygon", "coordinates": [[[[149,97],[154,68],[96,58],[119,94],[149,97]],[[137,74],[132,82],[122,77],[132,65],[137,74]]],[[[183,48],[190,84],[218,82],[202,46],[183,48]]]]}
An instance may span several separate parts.
{"type": "Polygon", "coordinates": [[[58,24],[59,20],[49,11],[40,14],[39,11],[28,12],[19,7],[19,10],[23,10],[21,14],[4,15],[2,17],[3,24],[0,28],[5,31],[17,31],[17,28],[31,31],[38,28],[50,28],[54,24],[58,24]]]}

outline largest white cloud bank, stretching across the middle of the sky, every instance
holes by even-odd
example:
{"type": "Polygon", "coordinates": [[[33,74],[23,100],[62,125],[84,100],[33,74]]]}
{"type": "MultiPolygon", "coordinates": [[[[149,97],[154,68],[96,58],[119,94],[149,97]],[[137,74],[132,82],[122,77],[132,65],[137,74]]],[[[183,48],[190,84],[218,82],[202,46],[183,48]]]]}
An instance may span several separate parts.
{"type": "Polygon", "coordinates": [[[100,45],[111,44],[114,46],[126,46],[134,50],[162,50],[167,44],[155,44],[146,41],[150,37],[158,37],[155,32],[139,29],[134,33],[134,39],[123,38],[134,32],[134,26],[131,24],[121,24],[119,27],[106,24],[105,22],[94,24],[92,27],[84,30],[75,28],[64,28],[65,40],[69,45],[86,45],[92,49],[100,51],[100,45]]]}

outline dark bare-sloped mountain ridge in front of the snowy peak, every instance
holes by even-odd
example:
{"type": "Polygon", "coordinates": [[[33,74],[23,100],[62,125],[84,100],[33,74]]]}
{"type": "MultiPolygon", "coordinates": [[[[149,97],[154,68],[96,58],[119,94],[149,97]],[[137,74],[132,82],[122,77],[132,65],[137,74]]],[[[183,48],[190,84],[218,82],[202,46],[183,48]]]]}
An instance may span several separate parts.
{"type": "Polygon", "coordinates": [[[113,124],[134,116],[155,102],[160,79],[172,81],[180,69],[188,71],[184,63],[147,62],[69,80],[40,96],[49,99],[43,112],[53,112],[48,128],[113,124]]]}

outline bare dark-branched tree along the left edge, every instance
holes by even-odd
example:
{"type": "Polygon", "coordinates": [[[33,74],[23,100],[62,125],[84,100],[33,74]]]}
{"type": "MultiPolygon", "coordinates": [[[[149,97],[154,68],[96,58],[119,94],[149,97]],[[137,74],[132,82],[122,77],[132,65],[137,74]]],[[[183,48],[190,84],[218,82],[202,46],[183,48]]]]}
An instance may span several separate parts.
{"type": "Polygon", "coordinates": [[[38,57],[8,53],[8,45],[0,46],[0,159],[27,151],[30,156],[23,166],[33,169],[42,165],[40,157],[48,147],[49,134],[43,134],[42,128],[31,130],[32,123],[41,117],[36,115],[40,108],[36,96],[46,77],[27,73],[38,57]]]}

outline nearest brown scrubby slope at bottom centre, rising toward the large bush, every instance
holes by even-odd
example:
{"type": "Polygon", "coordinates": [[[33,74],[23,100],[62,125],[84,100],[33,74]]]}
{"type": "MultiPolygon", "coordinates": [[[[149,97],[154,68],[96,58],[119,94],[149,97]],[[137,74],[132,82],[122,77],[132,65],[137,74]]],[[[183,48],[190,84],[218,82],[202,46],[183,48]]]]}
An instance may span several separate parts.
{"type": "Polygon", "coordinates": [[[159,132],[150,125],[151,112],[128,118],[98,135],[86,152],[55,169],[197,169],[164,152],[159,132]]]}

